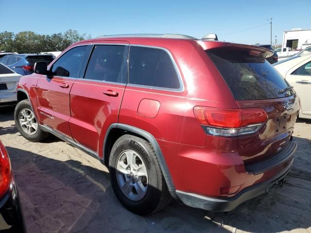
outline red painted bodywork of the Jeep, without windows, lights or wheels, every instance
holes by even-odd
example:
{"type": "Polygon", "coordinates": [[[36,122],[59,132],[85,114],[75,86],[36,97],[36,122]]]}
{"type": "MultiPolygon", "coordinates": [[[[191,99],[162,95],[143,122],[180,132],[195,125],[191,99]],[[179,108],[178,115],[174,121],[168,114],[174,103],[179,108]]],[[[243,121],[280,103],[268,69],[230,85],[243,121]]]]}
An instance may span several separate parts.
{"type": "Polygon", "coordinates": [[[269,158],[288,143],[300,108],[298,97],[236,101],[205,52],[225,46],[260,52],[267,50],[223,42],[139,37],[86,40],[67,50],[79,45],[109,43],[168,50],[178,68],[183,89],[161,90],[81,78],[49,79],[34,73],[22,77],[18,88],[29,94],[40,124],[65,134],[102,159],[104,139],[110,125],[120,123],[146,131],[156,139],[176,190],[207,197],[234,196],[245,187],[273,178],[293,162],[291,158],[257,175],[245,170],[246,164],[269,158]],[[62,88],[63,83],[69,85],[68,88],[62,88]],[[103,92],[106,91],[118,95],[105,95],[103,92]],[[291,101],[293,109],[283,111],[284,101],[291,101]],[[207,135],[194,115],[195,106],[263,108],[269,119],[251,135],[212,136],[207,135]],[[229,191],[223,194],[222,188],[229,191]]]}

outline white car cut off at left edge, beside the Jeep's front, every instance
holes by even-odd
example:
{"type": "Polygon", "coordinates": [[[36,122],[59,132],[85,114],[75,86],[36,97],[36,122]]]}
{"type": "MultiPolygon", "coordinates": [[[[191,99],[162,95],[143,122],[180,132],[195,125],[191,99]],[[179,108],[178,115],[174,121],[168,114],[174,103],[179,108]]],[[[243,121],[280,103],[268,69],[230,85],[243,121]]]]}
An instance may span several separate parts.
{"type": "Polygon", "coordinates": [[[0,105],[16,103],[16,86],[21,75],[0,64],[0,105]]]}

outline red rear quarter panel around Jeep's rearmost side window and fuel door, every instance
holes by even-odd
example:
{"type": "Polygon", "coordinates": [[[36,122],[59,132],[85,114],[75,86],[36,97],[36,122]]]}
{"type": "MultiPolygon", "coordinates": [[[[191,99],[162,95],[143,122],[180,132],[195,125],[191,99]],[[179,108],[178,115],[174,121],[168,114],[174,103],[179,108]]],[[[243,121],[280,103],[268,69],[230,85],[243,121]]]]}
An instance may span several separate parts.
{"type": "Polygon", "coordinates": [[[169,50],[180,71],[184,89],[175,92],[128,84],[121,104],[119,122],[145,130],[156,139],[203,147],[206,133],[195,118],[193,107],[238,107],[203,48],[192,40],[149,39],[145,43],[143,39],[138,39],[135,43],[131,43],[131,40],[129,42],[130,45],[148,45],[169,50]],[[138,106],[143,99],[160,103],[155,117],[138,114],[138,106]]]}

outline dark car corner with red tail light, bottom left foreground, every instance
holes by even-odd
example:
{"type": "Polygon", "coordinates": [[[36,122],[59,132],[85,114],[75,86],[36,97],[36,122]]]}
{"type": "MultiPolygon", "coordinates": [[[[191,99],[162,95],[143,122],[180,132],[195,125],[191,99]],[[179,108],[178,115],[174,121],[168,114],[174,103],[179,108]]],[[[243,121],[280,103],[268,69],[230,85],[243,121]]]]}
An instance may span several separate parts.
{"type": "Polygon", "coordinates": [[[0,232],[25,233],[10,158],[0,141],[0,232]]]}

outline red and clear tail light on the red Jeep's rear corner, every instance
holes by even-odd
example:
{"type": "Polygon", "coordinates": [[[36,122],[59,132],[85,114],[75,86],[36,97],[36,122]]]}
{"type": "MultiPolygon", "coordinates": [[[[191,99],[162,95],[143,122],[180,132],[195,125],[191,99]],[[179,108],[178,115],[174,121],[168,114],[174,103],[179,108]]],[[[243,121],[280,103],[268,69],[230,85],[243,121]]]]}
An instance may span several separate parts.
{"type": "Polygon", "coordinates": [[[257,132],[268,119],[261,108],[218,109],[197,106],[194,115],[207,134],[238,136],[257,132]]]}

